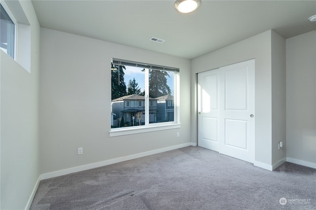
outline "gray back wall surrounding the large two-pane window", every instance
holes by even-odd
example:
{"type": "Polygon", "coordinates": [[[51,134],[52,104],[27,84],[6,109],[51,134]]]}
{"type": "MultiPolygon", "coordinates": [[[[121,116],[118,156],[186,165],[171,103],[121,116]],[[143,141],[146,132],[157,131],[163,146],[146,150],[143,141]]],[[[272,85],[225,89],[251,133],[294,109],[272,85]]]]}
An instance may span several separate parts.
{"type": "Polygon", "coordinates": [[[40,39],[42,174],[191,142],[189,59],[43,28],[40,39]],[[180,129],[109,137],[113,57],[180,69],[180,129]]]}

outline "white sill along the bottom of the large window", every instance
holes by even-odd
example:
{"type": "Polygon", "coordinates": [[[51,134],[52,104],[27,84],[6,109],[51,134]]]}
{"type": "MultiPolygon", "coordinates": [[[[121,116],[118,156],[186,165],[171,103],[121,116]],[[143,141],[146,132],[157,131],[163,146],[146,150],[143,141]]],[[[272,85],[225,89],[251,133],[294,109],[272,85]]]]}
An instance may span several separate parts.
{"type": "Polygon", "coordinates": [[[153,132],[153,131],[162,131],[162,130],[168,130],[168,129],[176,129],[180,128],[180,123],[174,123],[174,124],[167,124],[167,125],[154,125],[154,126],[137,126],[137,127],[128,127],[123,129],[111,129],[110,137],[118,137],[123,135],[131,135],[131,134],[140,134],[140,133],[147,133],[147,132],[153,132]]]}

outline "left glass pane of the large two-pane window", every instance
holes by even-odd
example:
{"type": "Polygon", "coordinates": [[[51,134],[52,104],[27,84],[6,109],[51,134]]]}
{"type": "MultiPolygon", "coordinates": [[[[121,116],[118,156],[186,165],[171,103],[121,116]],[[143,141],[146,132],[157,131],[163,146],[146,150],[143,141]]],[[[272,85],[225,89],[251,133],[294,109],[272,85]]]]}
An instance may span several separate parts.
{"type": "Polygon", "coordinates": [[[112,65],[112,128],[145,124],[145,70],[112,65]],[[124,102],[116,106],[118,102],[124,102]],[[115,115],[114,115],[115,114],[115,115]]]}

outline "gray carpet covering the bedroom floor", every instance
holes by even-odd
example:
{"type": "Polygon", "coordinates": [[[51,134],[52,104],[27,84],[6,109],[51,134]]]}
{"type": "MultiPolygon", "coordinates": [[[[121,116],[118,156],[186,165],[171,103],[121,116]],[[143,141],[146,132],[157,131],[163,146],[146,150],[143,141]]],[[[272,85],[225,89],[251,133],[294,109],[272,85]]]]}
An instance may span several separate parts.
{"type": "Polygon", "coordinates": [[[315,210],[316,169],[270,172],[189,146],[42,180],[31,210],[46,209],[315,210]]]}

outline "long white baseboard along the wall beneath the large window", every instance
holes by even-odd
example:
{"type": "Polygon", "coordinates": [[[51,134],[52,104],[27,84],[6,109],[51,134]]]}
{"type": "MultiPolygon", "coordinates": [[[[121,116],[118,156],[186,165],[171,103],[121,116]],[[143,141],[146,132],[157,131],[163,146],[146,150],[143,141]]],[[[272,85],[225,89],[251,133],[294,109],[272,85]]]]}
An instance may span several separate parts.
{"type": "Polygon", "coordinates": [[[101,162],[97,162],[97,163],[91,163],[91,164],[78,166],[78,167],[74,167],[74,168],[50,172],[50,173],[40,175],[40,180],[47,179],[47,178],[53,178],[53,177],[61,176],[61,175],[67,175],[67,174],[71,174],[71,173],[76,173],[76,172],[80,172],[80,171],[84,171],[84,170],[88,170],[88,169],[94,169],[94,168],[98,168],[98,167],[102,167],[102,166],[107,166],[107,165],[111,165],[114,163],[119,163],[122,161],[127,161],[127,160],[132,160],[132,159],[136,159],[136,158],[140,158],[140,157],[145,157],[148,155],[154,155],[154,154],[158,154],[161,152],[179,149],[179,148],[191,146],[191,145],[192,145],[192,142],[183,143],[183,144],[178,144],[178,145],[174,145],[174,146],[164,147],[161,149],[156,149],[156,150],[151,150],[151,151],[142,152],[142,153],[138,153],[138,154],[119,157],[119,158],[115,158],[115,159],[111,159],[111,160],[105,160],[105,161],[101,161],[101,162]]]}

